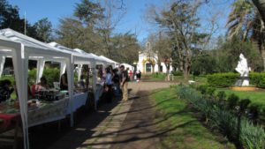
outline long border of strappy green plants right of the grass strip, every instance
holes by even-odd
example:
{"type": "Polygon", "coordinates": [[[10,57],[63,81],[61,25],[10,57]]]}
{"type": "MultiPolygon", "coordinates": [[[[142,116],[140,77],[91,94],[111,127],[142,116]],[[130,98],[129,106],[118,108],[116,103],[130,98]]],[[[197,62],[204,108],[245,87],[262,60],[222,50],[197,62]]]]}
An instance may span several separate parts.
{"type": "MultiPolygon", "coordinates": [[[[239,121],[238,115],[234,115],[229,109],[225,110],[218,102],[202,98],[201,94],[192,88],[178,86],[177,93],[180,98],[192,103],[193,107],[201,111],[202,115],[206,115],[208,124],[212,128],[220,130],[235,144],[239,143],[237,145],[243,145],[248,149],[265,148],[265,132],[261,126],[255,126],[244,116],[239,121]]],[[[229,97],[231,107],[234,107],[238,101],[239,97],[234,94],[229,97]]],[[[242,109],[246,108],[248,104],[249,100],[240,101],[242,109]]]]}

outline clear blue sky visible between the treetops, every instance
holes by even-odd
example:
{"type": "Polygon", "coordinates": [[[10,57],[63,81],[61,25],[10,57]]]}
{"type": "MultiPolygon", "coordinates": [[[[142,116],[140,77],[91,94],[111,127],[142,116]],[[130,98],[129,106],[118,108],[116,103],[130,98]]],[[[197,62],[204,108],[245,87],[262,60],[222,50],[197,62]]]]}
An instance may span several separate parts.
{"type": "MultiPolygon", "coordinates": [[[[115,30],[116,33],[126,33],[131,31],[136,33],[138,40],[142,41],[148,37],[149,33],[155,32],[154,26],[148,24],[145,20],[144,13],[149,4],[155,4],[156,6],[163,5],[166,0],[124,0],[126,13],[124,18],[119,22],[115,30]]],[[[223,34],[225,32],[224,24],[227,19],[227,14],[230,11],[230,4],[232,0],[213,0],[213,4],[208,4],[205,8],[201,9],[200,15],[204,19],[210,18],[212,14],[220,13],[218,19],[219,32],[223,34]],[[209,12],[209,10],[214,10],[209,12]],[[207,17],[208,16],[208,17],[207,17]]],[[[8,0],[12,5],[19,6],[20,16],[23,17],[26,11],[27,20],[33,24],[39,19],[48,18],[54,28],[57,28],[58,20],[64,17],[72,16],[75,4],[79,3],[79,0],[8,0]]],[[[206,21],[203,21],[204,24],[206,21]]],[[[205,24],[205,26],[207,26],[205,24]]]]}

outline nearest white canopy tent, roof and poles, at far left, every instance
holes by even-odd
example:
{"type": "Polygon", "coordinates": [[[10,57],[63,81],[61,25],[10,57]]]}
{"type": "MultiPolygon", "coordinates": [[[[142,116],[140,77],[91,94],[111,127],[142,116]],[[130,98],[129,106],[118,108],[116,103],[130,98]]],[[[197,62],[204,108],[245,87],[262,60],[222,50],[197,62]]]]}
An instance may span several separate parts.
{"type": "MultiPolygon", "coordinates": [[[[19,34],[11,29],[0,30],[0,34],[4,35],[6,38],[11,41],[17,41],[21,44],[21,47],[12,50],[10,56],[12,56],[12,61],[15,70],[16,84],[18,86],[20,107],[22,107],[21,115],[22,119],[24,117],[24,135],[25,135],[25,148],[28,148],[28,134],[27,134],[27,70],[28,70],[28,59],[38,60],[38,66],[42,65],[44,61],[57,61],[64,62],[67,67],[67,79],[68,79],[68,92],[70,104],[72,101],[73,95],[73,73],[72,73],[72,55],[69,53],[62,52],[57,48],[53,48],[41,41],[34,40],[24,34],[19,34]],[[41,64],[40,64],[41,62],[41,64]]],[[[6,55],[5,55],[6,56],[6,55]]],[[[38,68],[38,71],[42,70],[38,68]]],[[[40,74],[38,74],[40,75],[40,74]]],[[[72,116],[71,116],[72,117],[72,116]]],[[[71,125],[73,120],[71,119],[71,125]]]]}

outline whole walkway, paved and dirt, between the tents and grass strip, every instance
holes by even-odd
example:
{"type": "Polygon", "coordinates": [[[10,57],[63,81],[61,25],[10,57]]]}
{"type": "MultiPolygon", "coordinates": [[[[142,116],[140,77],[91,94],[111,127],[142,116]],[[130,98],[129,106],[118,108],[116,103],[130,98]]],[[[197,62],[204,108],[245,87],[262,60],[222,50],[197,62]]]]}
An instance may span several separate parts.
{"type": "Polygon", "coordinates": [[[154,148],[158,138],[155,124],[152,124],[155,112],[147,99],[148,91],[170,85],[163,82],[130,83],[129,101],[100,108],[96,113],[98,120],[96,115],[87,117],[49,149],[134,149],[139,145],[140,148],[154,148]],[[102,114],[106,114],[104,119],[100,117],[102,114]]]}

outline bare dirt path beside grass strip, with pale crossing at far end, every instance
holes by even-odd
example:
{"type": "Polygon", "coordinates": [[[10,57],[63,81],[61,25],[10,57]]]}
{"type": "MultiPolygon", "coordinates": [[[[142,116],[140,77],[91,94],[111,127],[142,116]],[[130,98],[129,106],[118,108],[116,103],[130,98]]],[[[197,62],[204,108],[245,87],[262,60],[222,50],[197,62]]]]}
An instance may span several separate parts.
{"type": "Polygon", "coordinates": [[[132,86],[138,88],[137,97],[128,111],[117,138],[111,149],[152,149],[158,148],[160,130],[155,125],[155,107],[149,101],[150,91],[157,88],[169,87],[168,83],[140,83],[132,86]]]}

